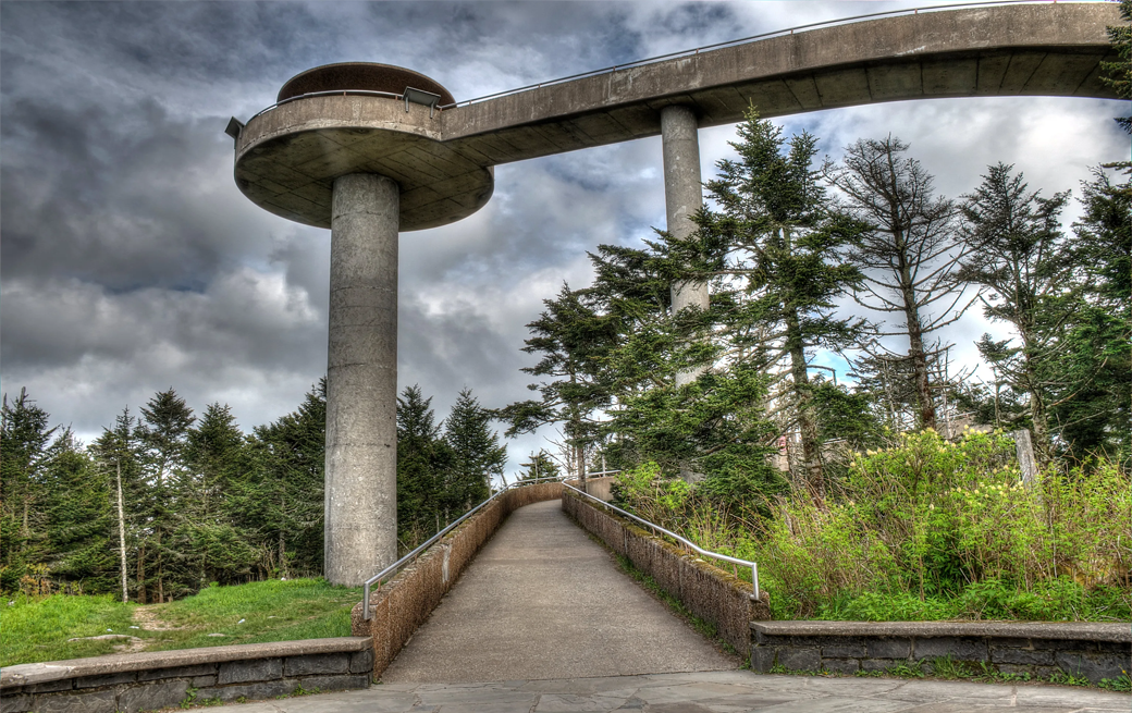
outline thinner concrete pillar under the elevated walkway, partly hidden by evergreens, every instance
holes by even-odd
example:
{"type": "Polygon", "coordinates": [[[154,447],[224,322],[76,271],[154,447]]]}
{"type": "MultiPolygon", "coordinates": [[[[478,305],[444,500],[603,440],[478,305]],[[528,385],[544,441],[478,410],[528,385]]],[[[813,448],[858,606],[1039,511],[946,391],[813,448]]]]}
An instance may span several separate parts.
{"type": "MultiPolygon", "coordinates": [[[[671,105],[660,111],[660,140],[664,155],[664,213],[667,230],[675,238],[696,231],[692,216],[703,206],[700,183],[700,138],[696,115],[688,106],[671,105]]],[[[707,309],[707,283],[677,282],[671,286],[672,311],[689,307],[707,309]]],[[[698,370],[676,375],[676,384],[691,384],[698,370]]]]}

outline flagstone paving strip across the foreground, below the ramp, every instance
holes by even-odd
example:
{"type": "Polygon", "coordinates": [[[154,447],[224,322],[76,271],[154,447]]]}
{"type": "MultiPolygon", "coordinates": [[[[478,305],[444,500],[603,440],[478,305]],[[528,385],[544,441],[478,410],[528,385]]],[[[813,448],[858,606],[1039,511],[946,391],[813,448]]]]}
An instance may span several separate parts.
{"type": "Polygon", "coordinates": [[[1132,696],[1058,686],[701,671],[495,684],[384,684],[232,713],[1129,713],[1132,696]]]}

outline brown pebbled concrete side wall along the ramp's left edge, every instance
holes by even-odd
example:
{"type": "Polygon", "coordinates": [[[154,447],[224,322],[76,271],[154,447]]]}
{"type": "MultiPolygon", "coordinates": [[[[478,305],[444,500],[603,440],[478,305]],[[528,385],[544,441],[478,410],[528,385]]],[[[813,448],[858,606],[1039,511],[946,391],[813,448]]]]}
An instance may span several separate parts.
{"type": "Polygon", "coordinates": [[[508,515],[524,505],[556,500],[561,490],[559,482],[508,490],[406,565],[392,581],[371,591],[372,619],[362,618],[361,602],[354,605],[350,612],[354,636],[372,637],[374,676],[380,676],[393,662],[508,515]]]}

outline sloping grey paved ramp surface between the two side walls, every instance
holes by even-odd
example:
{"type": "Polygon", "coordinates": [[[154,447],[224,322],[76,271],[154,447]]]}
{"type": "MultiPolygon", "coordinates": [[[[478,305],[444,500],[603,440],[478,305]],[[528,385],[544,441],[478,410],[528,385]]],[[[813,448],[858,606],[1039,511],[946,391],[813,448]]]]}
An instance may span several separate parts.
{"type": "Polygon", "coordinates": [[[617,568],[559,500],[515,510],[381,680],[560,679],[735,669],[617,568]]]}

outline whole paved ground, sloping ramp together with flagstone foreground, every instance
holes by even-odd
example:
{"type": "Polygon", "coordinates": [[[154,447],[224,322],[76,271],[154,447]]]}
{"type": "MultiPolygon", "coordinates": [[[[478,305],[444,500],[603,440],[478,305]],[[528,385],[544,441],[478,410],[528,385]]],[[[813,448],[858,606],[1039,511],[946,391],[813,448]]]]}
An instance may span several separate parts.
{"type": "Polygon", "coordinates": [[[368,690],[233,713],[1129,713],[1058,686],[764,676],[735,670],[626,577],[557,500],[516,510],[368,690]],[[487,682],[484,682],[487,681],[487,682]]]}

